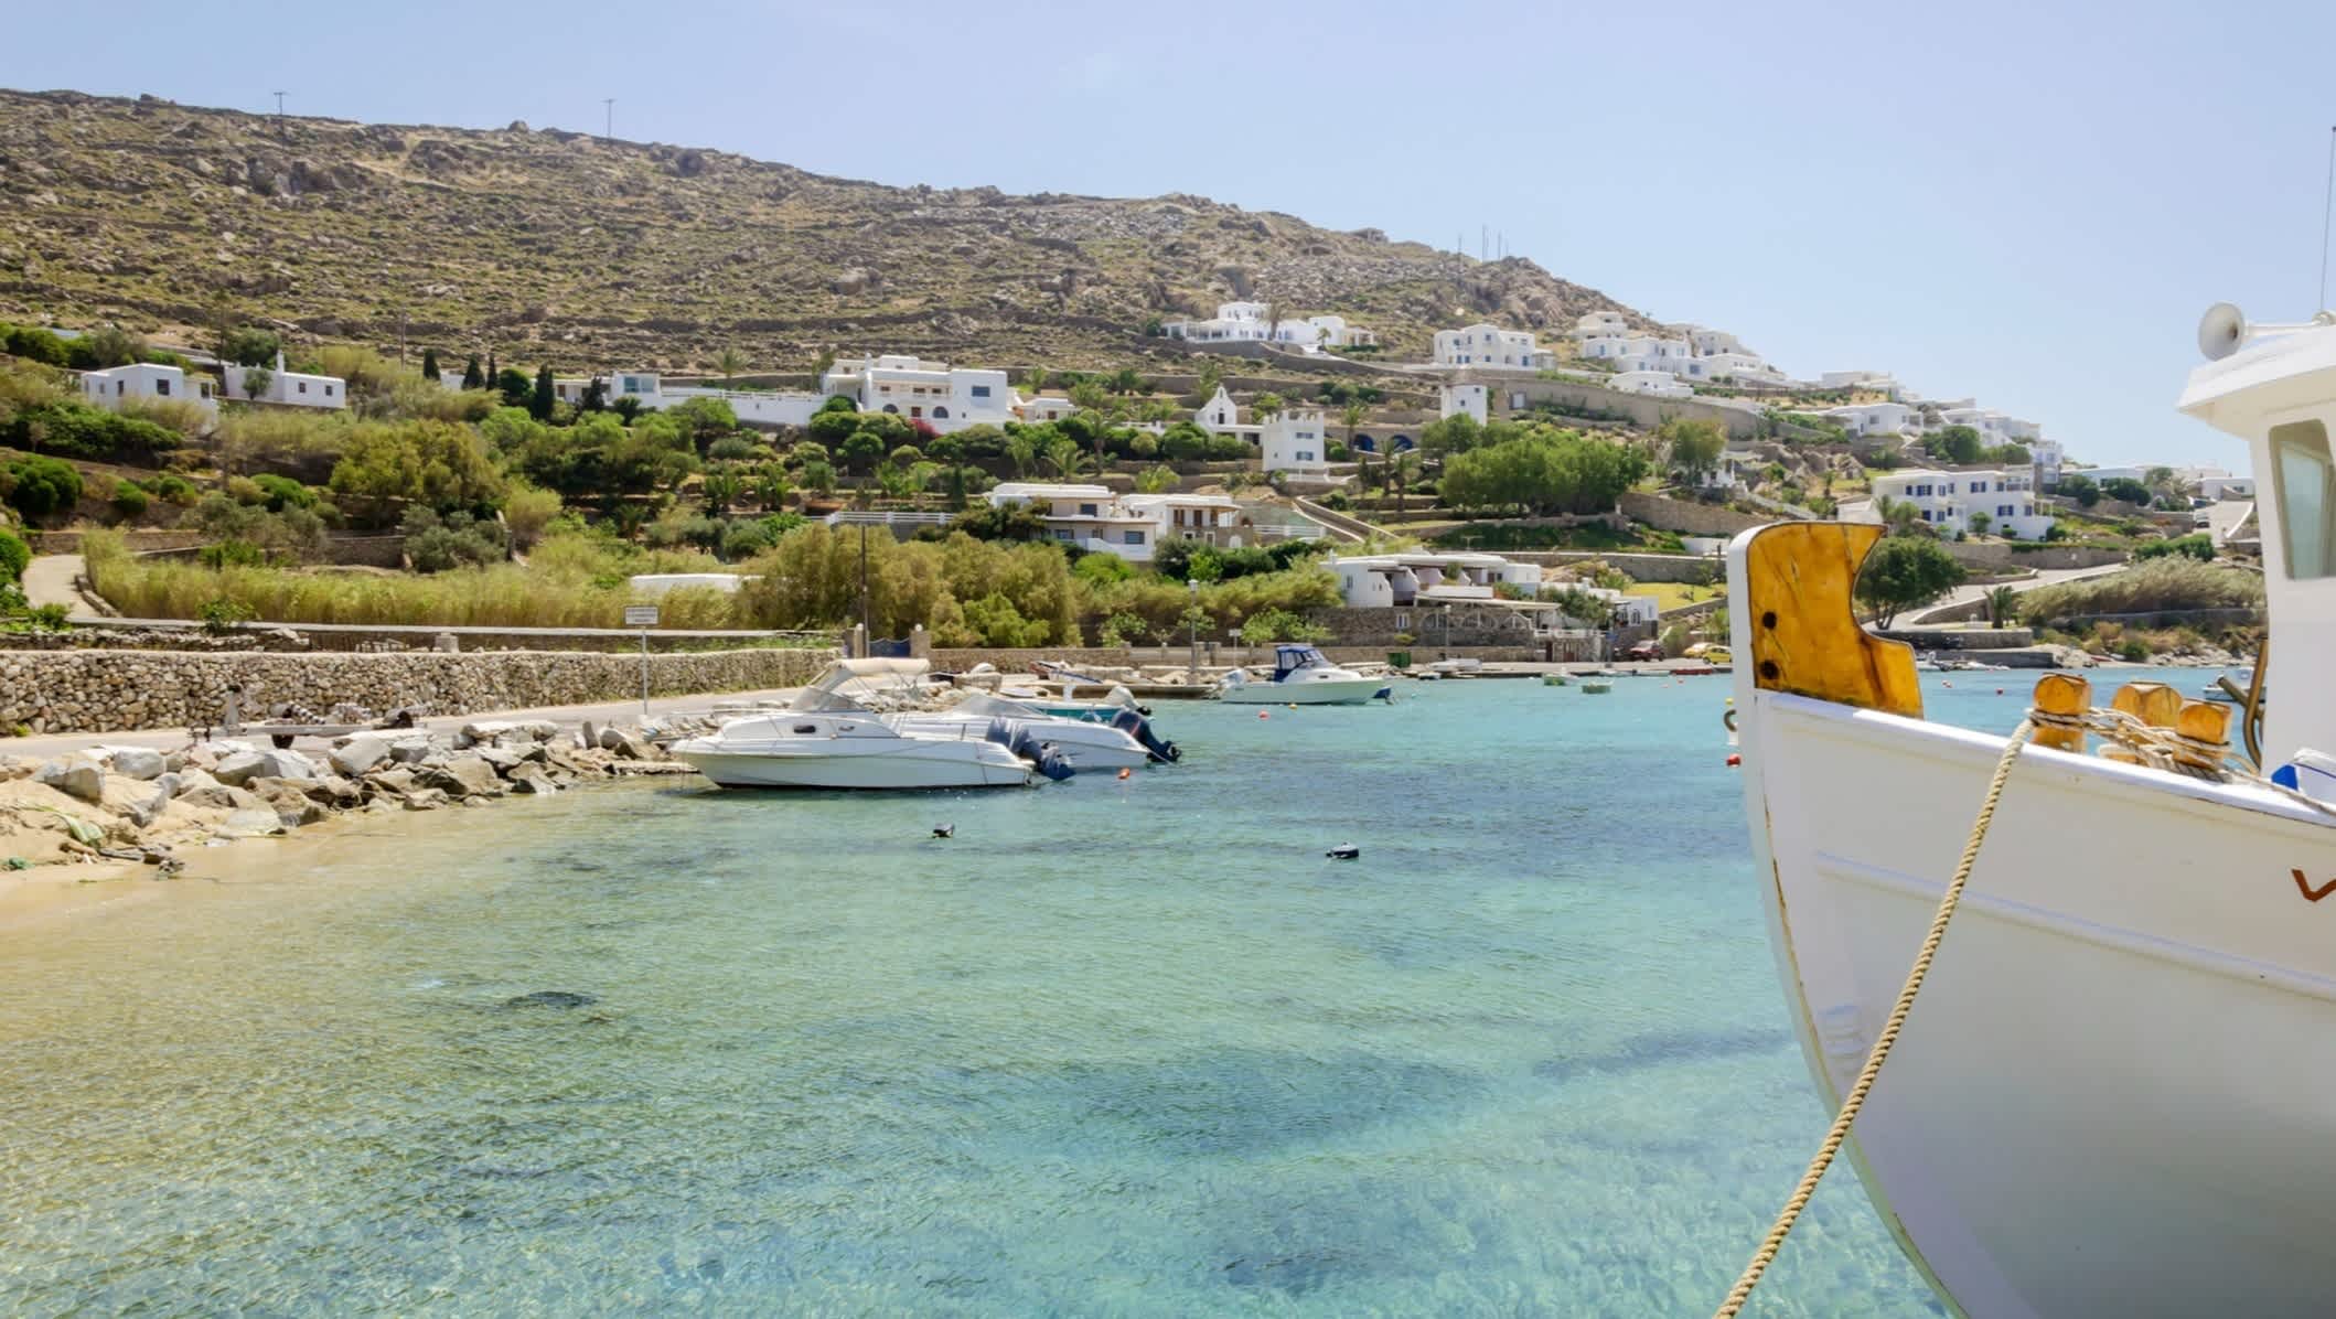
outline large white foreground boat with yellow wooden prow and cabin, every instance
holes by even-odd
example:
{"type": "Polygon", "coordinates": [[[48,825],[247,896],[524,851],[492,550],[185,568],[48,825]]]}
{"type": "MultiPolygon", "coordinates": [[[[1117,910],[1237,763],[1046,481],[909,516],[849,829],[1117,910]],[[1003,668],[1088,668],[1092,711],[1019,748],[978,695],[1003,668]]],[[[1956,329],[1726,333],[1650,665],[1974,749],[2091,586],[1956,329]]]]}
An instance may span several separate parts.
{"type": "MultiPolygon", "coordinates": [[[[2247,341],[2233,308],[2208,315],[2182,411],[2243,437],[2261,479],[2278,644],[2257,663],[2275,654],[2292,677],[2261,712],[2254,773],[2294,777],[2336,749],[2336,317],[2247,341]]],[[[1923,721],[1911,651],[1855,623],[1880,535],[1787,523],[1729,549],[1745,812],[1827,1104],[1876,1046],[2007,749],[1923,721]]],[[[2233,714],[2172,705],[2186,731],[2233,714]]],[[[2014,761],[1845,1153],[1960,1314],[2327,1314],[2336,817],[2254,773],[2084,752],[2079,731],[2014,761]]]]}

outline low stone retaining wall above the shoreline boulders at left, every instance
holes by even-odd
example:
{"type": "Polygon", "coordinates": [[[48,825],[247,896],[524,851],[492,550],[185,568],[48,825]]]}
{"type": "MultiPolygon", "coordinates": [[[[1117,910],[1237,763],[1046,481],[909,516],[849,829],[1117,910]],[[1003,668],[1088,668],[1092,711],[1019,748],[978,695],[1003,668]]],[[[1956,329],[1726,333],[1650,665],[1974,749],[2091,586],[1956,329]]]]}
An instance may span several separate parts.
{"type": "MultiPolygon", "coordinates": [[[[755,649],[649,656],[652,696],[801,686],[832,649],[755,649]]],[[[640,696],[640,656],[505,654],[0,654],[0,731],[114,733],[217,724],[229,684],[245,717],[297,703],[350,700],[374,712],[427,705],[432,714],[582,705],[640,696]]]]}

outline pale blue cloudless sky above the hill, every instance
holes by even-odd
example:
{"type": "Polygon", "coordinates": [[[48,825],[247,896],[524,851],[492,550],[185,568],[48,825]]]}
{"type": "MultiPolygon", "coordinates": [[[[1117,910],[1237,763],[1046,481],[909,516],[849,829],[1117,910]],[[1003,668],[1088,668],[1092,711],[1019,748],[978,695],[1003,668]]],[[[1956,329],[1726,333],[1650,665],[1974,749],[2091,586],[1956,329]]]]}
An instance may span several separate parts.
{"type": "Polygon", "coordinates": [[[598,128],[890,184],[1194,191],[1479,224],[1796,376],[1873,367],[2088,462],[2236,462],[2172,413],[2198,313],[2303,320],[2336,5],[75,7],[0,84],[598,128]]]}

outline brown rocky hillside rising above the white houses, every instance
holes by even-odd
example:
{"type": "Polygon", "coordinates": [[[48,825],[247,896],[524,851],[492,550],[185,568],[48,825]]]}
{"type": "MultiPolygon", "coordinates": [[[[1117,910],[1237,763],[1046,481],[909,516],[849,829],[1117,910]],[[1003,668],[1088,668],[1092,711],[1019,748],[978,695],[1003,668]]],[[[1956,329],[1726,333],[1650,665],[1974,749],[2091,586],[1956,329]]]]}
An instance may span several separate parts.
{"type": "Polygon", "coordinates": [[[498,348],[561,369],[801,371],[827,348],[1135,360],[1147,317],[1254,296],[1423,357],[1467,320],[1624,310],[1472,261],[1198,196],[883,187],[584,133],[416,128],[0,91],[0,320],[498,348]]]}

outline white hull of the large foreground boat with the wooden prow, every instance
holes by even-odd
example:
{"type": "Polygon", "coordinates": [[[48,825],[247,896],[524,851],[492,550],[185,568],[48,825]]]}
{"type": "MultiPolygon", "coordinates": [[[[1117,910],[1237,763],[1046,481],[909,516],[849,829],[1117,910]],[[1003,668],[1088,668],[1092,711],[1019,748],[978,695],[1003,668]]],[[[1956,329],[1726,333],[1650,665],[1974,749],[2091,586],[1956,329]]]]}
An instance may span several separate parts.
{"type": "MultiPolygon", "coordinates": [[[[1750,668],[1768,931],[1834,1107],[2002,740],[1754,691],[1750,668]]],[[[2331,880],[2310,808],[2023,752],[1848,1151],[1941,1296],[1979,1317],[2336,1310],[2336,901],[2306,892],[2331,880]]]]}

